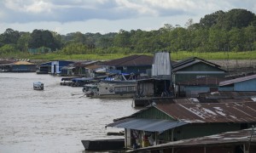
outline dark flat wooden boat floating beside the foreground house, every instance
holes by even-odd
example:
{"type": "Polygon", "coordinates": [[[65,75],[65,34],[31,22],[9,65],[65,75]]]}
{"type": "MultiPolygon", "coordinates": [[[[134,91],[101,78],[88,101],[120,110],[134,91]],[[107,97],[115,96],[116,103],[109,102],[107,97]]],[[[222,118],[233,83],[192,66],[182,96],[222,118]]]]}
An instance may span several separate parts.
{"type": "Polygon", "coordinates": [[[84,150],[124,150],[125,139],[81,140],[84,150]]]}

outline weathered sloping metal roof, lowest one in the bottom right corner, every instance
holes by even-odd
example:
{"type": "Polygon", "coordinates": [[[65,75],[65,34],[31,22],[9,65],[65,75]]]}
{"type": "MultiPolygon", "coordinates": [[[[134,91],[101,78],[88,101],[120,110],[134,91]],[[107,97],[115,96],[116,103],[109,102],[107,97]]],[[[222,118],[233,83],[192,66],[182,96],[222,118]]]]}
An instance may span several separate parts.
{"type": "MultiPolygon", "coordinates": [[[[209,146],[212,144],[255,144],[256,138],[252,137],[252,128],[233,131],[233,132],[226,132],[226,133],[218,133],[214,135],[209,135],[205,137],[199,137],[195,139],[183,139],[179,141],[169,142],[166,144],[158,144],[154,146],[149,146],[145,148],[140,148],[137,150],[131,150],[128,152],[133,151],[143,151],[143,150],[158,150],[158,149],[166,149],[172,147],[189,147],[189,146],[209,146]]],[[[224,145],[223,145],[224,146],[224,145]]]]}

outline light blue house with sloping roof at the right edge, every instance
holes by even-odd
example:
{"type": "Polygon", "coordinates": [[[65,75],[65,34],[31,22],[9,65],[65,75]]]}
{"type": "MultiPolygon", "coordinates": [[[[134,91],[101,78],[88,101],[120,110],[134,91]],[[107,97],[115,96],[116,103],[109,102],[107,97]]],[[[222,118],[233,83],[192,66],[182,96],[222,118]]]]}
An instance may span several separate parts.
{"type": "Polygon", "coordinates": [[[256,75],[219,82],[220,91],[256,91],[256,75]]]}

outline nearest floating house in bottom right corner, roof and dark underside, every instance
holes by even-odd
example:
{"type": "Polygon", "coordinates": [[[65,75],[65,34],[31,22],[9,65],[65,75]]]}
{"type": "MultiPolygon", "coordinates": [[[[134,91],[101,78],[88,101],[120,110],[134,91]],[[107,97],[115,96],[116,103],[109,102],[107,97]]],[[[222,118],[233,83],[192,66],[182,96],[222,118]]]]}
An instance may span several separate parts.
{"type": "Polygon", "coordinates": [[[128,152],[182,152],[182,153],[216,153],[256,152],[256,131],[247,128],[226,133],[217,133],[195,139],[183,139],[177,142],[159,144],[128,152]]]}

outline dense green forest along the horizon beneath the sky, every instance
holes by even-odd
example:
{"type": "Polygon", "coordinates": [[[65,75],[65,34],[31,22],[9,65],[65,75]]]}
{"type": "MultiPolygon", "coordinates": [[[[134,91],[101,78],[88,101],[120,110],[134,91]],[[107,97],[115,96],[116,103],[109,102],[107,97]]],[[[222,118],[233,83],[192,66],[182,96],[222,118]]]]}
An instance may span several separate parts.
{"type": "Polygon", "coordinates": [[[255,51],[256,15],[246,9],[217,11],[201,18],[189,19],[185,26],[166,24],[159,30],[140,29],[108,34],[73,32],[60,35],[55,31],[32,33],[6,29],[0,35],[0,56],[28,54],[29,49],[50,48],[58,54],[151,54],[167,50],[172,53],[255,51]]]}

